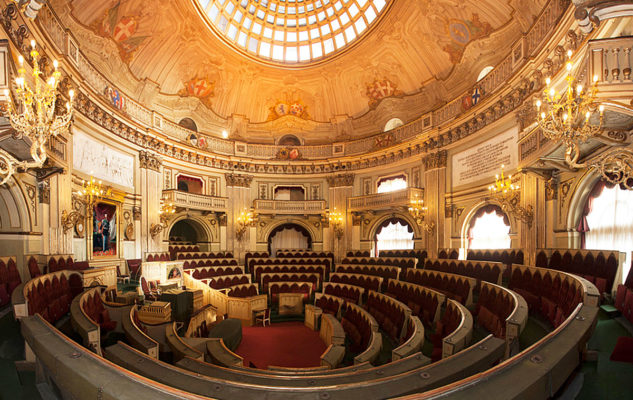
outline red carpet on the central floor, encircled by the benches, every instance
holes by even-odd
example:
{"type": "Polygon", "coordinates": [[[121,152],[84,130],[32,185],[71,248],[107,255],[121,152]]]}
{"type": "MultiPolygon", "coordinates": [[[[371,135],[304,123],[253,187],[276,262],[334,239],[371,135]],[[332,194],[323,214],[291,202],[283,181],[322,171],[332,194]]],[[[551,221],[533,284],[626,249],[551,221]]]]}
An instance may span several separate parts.
{"type": "Polygon", "coordinates": [[[325,349],[319,332],[296,321],[242,328],[242,343],[235,352],[244,357],[244,366],[306,368],[318,367],[325,349]]]}

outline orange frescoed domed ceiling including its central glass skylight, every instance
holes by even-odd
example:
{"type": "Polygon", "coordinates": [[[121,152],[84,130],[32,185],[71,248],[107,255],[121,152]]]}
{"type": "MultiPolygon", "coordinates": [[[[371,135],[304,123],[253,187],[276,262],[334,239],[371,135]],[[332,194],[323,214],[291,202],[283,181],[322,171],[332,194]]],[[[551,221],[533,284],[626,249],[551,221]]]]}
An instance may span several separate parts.
{"type": "Polygon", "coordinates": [[[285,133],[338,141],[392,117],[411,121],[503,59],[545,3],[50,1],[124,97],[203,132],[264,143],[285,133]]]}

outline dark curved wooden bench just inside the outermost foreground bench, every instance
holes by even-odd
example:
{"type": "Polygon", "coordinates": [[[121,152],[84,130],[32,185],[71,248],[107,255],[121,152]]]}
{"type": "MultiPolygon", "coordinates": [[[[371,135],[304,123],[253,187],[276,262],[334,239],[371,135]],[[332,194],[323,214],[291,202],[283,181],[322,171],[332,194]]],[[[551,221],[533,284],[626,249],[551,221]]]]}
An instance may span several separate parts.
{"type": "MultiPolygon", "coordinates": [[[[108,347],[105,354],[108,359],[121,363],[120,365],[124,368],[150,379],[177,388],[187,388],[193,393],[213,396],[218,399],[269,397],[314,400],[315,395],[325,396],[327,394],[330,399],[373,400],[430,390],[486,370],[503,357],[504,347],[503,340],[490,335],[475,346],[471,346],[468,350],[449,359],[408,369],[399,374],[388,374],[387,370],[373,368],[352,374],[337,374],[326,377],[301,376],[293,379],[285,376],[282,378],[282,382],[293,382],[293,386],[289,386],[288,383],[275,385],[271,381],[270,375],[261,375],[259,379],[262,384],[255,384],[250,379],[247,380],[241,371],[238,376],[243,378],[238,378],[239,380],[205,376],[202,369],[197,369],[198,366],[204,365],[203,363],[183,359],[176,364],[178,367],[183,367],[185,360],[195,364],[195,372],[187,372],[173,365],[154,360],[121,343],[108,347]]],[[[415,357],[414,355],[393,364],[397,365],[415,357]]],[[[424,359],[420,358],[415,361],[419,364],[424,359]]]]}

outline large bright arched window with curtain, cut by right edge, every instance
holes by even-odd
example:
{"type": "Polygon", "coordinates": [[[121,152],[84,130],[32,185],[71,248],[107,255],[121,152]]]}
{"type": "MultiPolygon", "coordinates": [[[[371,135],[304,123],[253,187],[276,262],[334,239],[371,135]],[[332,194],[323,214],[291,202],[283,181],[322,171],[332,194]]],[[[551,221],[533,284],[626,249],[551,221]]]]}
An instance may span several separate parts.
{"type": "Polygon", "coordinates": [[[589,196],[584,211],[578,227],[581,239],[584,236],[584,240],[581,240],[583,248],[627,253],[622,271],[624,281],[631,269],[633,251],[633,190],[608,187],[604,182],[599,182],[589,196]]]}

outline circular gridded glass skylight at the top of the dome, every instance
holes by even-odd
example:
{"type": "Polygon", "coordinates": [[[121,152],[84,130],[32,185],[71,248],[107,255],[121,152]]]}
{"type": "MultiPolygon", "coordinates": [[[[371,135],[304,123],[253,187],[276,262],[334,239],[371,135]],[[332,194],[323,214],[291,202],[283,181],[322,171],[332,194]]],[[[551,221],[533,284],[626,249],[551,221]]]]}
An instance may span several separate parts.
{"type": "Polygon", "coordinates": [[[211,27],[250,56],[305,64],[337,53],[393,0],[194,0],[211,27]]]}

